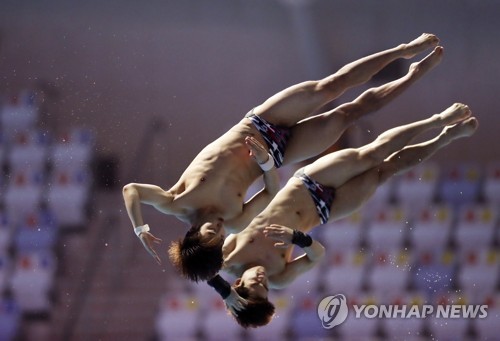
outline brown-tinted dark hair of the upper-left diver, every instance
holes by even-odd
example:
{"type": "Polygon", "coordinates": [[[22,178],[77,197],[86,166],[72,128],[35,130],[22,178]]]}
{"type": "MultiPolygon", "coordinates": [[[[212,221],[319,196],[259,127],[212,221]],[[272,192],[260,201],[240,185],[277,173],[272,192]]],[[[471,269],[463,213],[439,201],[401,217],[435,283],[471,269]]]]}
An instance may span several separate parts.
{"type": "Polygon", "coordinates": [[[200,234],[201,225],[192,226],[184,236],[170,244],[168,256],[185,278],[198,282],[212,278],[222,268],[222,244],[218,238],[206,240],[200,234]]]}

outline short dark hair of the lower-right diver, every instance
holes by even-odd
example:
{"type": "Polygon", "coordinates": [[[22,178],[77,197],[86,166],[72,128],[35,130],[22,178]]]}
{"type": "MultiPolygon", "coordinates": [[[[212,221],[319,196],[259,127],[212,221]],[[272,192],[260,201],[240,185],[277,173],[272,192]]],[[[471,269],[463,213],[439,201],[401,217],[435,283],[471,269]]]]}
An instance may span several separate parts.
{"type": "Polygon", "coordinates": [[[243,286],[234,286],[234,290],[241,297],[248,301],[244,309],[238,311],[238,315],[233,315],[234,319],[243,328],[257,328],[265,326],[274,315],[274,304],[267,298],[255,296],[250,293],[248,288],[243,286]]]}

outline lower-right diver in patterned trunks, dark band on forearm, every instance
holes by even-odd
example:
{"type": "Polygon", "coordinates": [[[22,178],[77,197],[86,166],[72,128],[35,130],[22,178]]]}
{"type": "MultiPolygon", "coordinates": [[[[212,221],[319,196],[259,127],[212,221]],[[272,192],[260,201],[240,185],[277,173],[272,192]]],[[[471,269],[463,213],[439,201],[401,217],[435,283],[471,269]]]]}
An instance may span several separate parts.
{"type": "Polygon", "coordinates": [[[269,288],[286,287],[324,256],[324,247],[307,232],[348,216],[387,179],[473,135],[477,127],[468,106],[455,103],[440,114],[390,129],[365,146],[327,154],[299,169],[247,228],[225,239],[222,269],[238,277],[234,285],[220,275],[208,283],[224,299],[231,296],[226,304],[243,327],[269,323],[274,314],[269,288]],[[437,137],[411,144],[435,128],[442,128],[437,137]],[[294,245],[305,253],[292,259],[294,245]]]}

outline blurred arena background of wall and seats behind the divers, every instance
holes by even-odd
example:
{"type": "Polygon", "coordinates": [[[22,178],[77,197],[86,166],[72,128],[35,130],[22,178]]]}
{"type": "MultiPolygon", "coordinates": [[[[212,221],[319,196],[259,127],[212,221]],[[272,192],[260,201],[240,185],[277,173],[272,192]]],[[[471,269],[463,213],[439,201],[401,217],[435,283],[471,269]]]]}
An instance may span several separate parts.
{"type": "Polygon", "coordinates": [[[498,13],[488,0],[1,1],[0,340],[498,340],[498,13]],[[162,266],[150,259],[123,185],[169,187],[270,95],[422,32],[441,38],[441,65],[332,148],[453,102],[480,130],[318,228],[327,259],[272,294],[269,326],[242,330],[211,288],[181,280],[164,250],[185,226],[145,207],[164,240],[162,266]],[[337,293],[349,304],[488,304],[489,314],[323,329],[317,304],[337,293]]]}

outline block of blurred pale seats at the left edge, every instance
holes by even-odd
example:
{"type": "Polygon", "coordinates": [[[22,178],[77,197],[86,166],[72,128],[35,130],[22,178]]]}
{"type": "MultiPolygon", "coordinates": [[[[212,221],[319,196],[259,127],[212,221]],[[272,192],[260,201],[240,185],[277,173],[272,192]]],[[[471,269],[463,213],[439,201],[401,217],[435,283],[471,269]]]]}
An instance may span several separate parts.
{"type": "Polygon", "coordinates": [[[35,93],[0,103],[0,340],[14,340],[26,315],[50,315],[61,222],[84,224],[94,136],[69,128],[64,143],[39,128],[35,93]]]}

